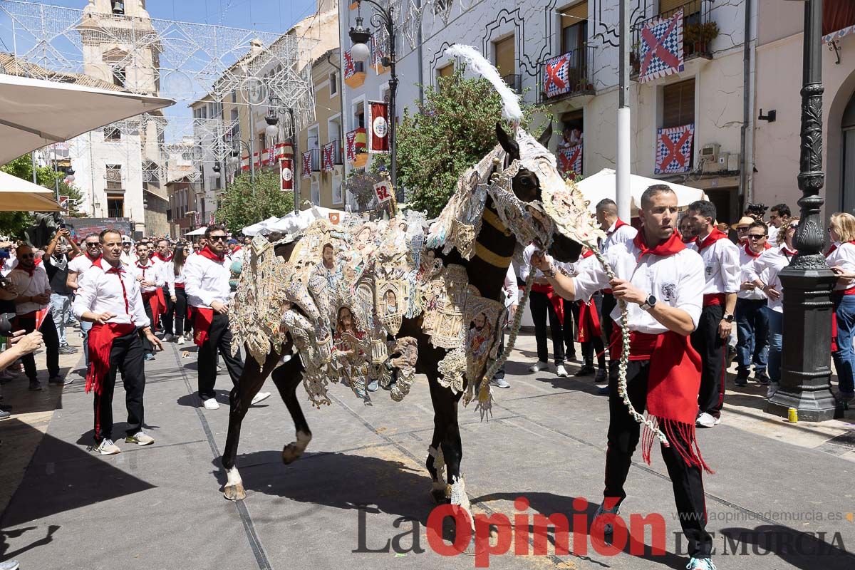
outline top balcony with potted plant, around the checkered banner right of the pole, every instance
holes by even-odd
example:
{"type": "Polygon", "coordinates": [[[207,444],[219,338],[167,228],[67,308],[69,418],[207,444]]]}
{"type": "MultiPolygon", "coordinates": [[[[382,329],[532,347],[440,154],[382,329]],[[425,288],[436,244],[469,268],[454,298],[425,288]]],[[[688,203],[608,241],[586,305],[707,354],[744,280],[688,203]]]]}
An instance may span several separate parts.
{"type": "Polygon", "coordinates": [[[640,74],[642,53],[642,30],[651,21],[667,19],[678,11],[683,11],[683,62],[712,59],[712,40],[718,37],[718,25],[712,20],[711,9],[713,0],[692,0],[682,6],[661,12],[646,20],[639,21],[632,27],[633,44],[629,52],[630,78],[637,80],[640,74]]]}

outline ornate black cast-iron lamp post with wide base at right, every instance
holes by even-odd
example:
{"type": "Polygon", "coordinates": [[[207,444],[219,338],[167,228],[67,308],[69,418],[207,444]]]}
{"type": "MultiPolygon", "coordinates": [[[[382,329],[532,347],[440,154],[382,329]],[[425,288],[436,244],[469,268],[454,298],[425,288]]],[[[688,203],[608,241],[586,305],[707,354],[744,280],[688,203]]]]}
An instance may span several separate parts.
{"type": "Polygon", "coordinates": [[[821,253],[825,232],[823,207],[823,2],[805,1],[804,59],[801,89],[801,154],[799,199],[801,219],[793,238],[799,253],[781,271],[783,350],[781,388],[766,404],[769,414],[799,411],[799,420],[831,420],[838,413],[831,394],[831,291],[836,278],[821,253]]]}

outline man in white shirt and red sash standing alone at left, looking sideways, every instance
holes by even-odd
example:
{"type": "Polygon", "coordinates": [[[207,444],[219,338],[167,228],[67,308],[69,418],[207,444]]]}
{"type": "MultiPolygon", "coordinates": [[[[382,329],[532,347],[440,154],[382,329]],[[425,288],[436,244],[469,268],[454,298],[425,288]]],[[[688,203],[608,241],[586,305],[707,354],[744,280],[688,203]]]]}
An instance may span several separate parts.
{"type": "Polygon", "coordinates": [[[86,391],[95,392],[95,441],[101,455],[120,453],[113,443],[113,390],[121,370],[127,405],[125,443],[150,445],[155,440],[143,432],[145,391],[144,348],[139,333],[150,345],[163,349],[151,332],[139,283],[121,263],[121,233],[107,229],[100,235],[103,256],[86,270],[74,298],[74,314],[93,323],[90,332],[91,367],[86,391]]]}

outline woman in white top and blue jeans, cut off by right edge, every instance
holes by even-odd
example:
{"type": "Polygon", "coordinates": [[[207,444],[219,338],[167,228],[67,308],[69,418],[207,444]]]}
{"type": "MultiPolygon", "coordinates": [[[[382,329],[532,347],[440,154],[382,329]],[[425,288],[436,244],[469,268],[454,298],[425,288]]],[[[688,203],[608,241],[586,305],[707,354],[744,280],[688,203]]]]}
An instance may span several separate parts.
{"type": "MultiPolygon", "coordinates": [[[[834,245],[828,250],[825,262],[836,273],[855,271],[855,216],[846,213],[831,214],[828,235],[834,245]]],[[[837,334],[831,356],[837,369],[838,400],[849,402],[855,398],[855,281],[840,277],[831,295],[837,334]]]]}

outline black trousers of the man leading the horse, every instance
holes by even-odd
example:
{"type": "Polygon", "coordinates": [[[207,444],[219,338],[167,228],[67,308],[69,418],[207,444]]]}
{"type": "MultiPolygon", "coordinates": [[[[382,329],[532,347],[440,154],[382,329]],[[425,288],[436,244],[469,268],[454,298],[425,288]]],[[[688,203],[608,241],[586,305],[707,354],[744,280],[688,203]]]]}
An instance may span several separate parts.
{"type": "MultiPolygon", "coordinates": [[[[644,410],[647,402],[647,374],[650,361],[629,361],[627,368],[627,391],[629,401],[636,410],[644,410]]],[[[627,480],[632,464],[633,452],[639,443],[641,426],[629,415],[623,398],[617,394],[617,367],[611,367],[609,375],[609,445],[605,452],[605,490],[603,496],[608,508],[613,508],[627,497],[623,484],[627,480]],[[612,501],[609,501],[609,499],[612,501]]],[[[678,430],[674,437],[681,438],[678,430]]],[[[681,438],[683,449],[691,445],[681,438]]],[[[700,467],[690,466],[675,451],[674,446],[660,445],[665,466],[674,488],[674,502],[680,515],[683,534],[688,539],[689,555],[708,557],[712,551],[712,538],[706,532],[706,507],[704,482],[700,467]]]]}

